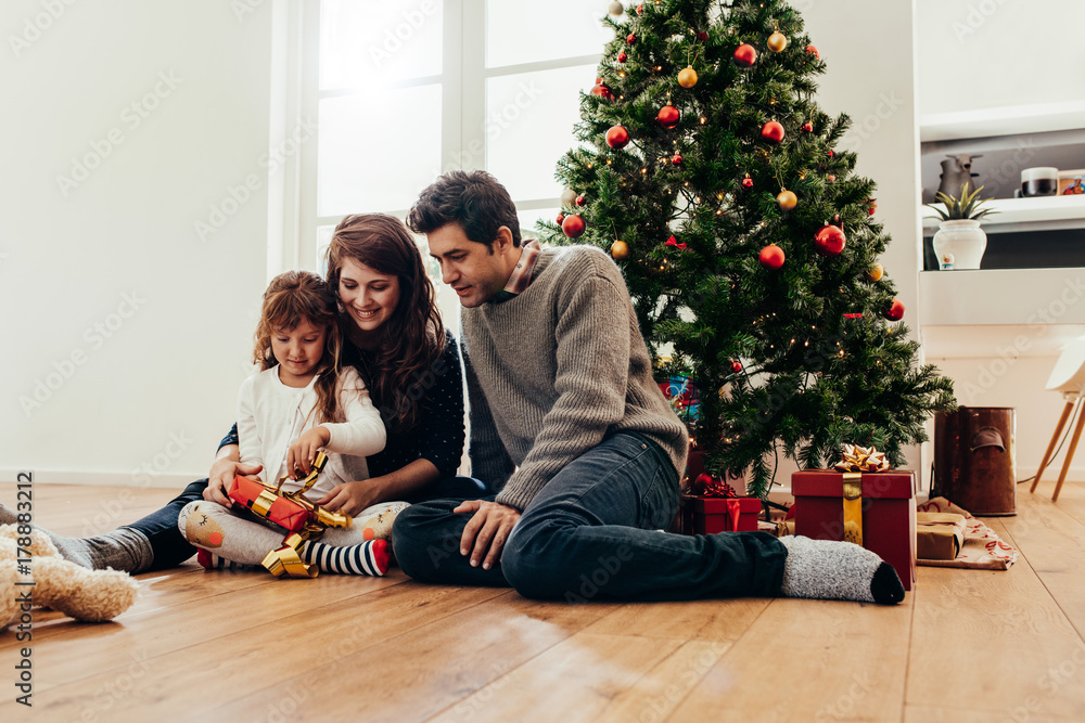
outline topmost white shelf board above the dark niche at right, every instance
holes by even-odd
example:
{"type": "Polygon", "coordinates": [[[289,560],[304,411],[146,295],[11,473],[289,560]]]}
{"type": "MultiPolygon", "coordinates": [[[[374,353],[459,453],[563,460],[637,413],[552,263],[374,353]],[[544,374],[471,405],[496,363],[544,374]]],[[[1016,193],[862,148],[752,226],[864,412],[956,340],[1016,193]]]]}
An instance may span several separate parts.
{"type": "Polygon", "coordinates": [[[919,117],[919,140],[950,141],[1085,128],[1085,101],[1007,105],[919,117]]]}

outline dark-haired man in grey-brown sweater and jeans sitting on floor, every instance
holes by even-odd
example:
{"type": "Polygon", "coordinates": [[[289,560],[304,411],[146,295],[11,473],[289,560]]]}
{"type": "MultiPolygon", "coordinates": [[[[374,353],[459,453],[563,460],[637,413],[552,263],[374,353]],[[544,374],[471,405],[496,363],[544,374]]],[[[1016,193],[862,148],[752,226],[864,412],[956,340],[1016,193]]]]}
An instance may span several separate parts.
{"type": "Polygon", "coordinates": [[[593,247],[521,245],[515,206],[484,171],[445,173],[407,220],[460,297],[472,475],[498,490],[400,513],[408,574],[570,602],[903,599],[893,568],[851,543],[661,533],[688,438],[617,267],[593,247]]]}

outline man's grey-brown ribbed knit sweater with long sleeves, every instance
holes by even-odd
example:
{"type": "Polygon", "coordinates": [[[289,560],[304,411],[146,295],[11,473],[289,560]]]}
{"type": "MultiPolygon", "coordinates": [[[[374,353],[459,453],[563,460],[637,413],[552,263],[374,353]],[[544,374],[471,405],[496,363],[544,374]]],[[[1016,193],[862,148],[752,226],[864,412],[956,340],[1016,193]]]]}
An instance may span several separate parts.
{"type": "Polygon", "coordinates": [[[462,312],[471,474],[524,509],[615,431],[656,442],[679,476],[689,446],[652,378],[625,281],[591,246],[545,248],[507,301],[462,312]],[[516,469],[519,467],[519,469],[516,469]]]}

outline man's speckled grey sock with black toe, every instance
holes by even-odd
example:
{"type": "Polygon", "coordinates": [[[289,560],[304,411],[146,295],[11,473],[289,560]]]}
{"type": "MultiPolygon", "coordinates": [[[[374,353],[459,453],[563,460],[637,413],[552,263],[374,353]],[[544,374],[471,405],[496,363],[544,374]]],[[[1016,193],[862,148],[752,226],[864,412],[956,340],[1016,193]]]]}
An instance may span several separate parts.
{"type": "Polygon", "coordinates": [[[896,570],[851,542],[780,538],[788,548],[781,592],[787,597],[858,601],[895,605],[904,599],[896,570]]]}

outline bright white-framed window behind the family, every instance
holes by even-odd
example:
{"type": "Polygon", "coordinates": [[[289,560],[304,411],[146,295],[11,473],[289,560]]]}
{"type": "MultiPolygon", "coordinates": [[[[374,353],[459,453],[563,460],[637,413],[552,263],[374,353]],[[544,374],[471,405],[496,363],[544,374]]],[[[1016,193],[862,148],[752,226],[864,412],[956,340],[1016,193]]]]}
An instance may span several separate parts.
{"type": "MultiPolygon", "coordinates": [[[[604,3],[583,0],[545,9],[508,0],[294,5],[282,44],[299,68],[297,115],[319,125],[293,169],[296,212],[283,228],[296,232],[284,234],[269,271],[277,261],[278,269],[320,268],[344,216],[404,218],[418,193],[452,168],[493,172],[528,234],[538,219],[554,218],[556,164],[576,142],[578,94],[593,85],[611,34],[603,12],[604,3]]],[[[289,113],[290,103],[283,107],[289,113]]],[[[284,197],[290,206],[289,189],[284,197]]]]}

